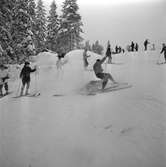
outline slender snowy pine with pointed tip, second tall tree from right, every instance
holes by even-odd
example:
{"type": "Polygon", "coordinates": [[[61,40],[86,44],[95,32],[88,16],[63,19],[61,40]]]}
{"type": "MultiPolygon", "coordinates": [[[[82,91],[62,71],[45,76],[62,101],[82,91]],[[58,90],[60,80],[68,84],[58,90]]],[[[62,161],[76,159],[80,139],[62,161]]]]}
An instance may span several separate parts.
{"type": "Polygon", "coordinates": [[[47,19],[47,47],[50,50],[58,51],[57,39],[59,31],[59,18],[57,14],[57,6],[55,0],[53,0],[47,19]]]}

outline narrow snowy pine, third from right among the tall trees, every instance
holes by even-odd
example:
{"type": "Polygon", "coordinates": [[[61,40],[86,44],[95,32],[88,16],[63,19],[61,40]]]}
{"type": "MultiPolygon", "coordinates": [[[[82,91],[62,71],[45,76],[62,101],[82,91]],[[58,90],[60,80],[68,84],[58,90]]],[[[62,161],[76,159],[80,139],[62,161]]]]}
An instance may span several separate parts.
{"type": "Polygon", "coordinates": [[[40,52],[45,48],[46,42],[46,10],[42,0],[38,0],[36,7],[36,47],[40,52]]]}

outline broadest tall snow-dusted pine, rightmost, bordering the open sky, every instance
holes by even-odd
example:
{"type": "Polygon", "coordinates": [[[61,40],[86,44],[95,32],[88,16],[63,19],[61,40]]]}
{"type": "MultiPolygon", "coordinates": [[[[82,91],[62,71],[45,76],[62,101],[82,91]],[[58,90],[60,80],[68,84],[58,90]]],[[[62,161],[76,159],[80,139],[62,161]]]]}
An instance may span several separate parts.
{"type": "Polygon", "coordinates": [[[81,37],[83,24],[78,9],[77,0],[65,0],[62,6],[58,43],[66,52],[79,47],[83,40],[81,37]]]}

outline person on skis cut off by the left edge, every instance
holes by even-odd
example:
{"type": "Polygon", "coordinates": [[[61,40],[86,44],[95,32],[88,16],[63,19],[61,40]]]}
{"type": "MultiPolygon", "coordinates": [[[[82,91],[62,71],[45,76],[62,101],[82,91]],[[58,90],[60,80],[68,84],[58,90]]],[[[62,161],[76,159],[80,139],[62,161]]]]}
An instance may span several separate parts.
{"type": "Polygon", "coordinates": [[[3,64],[0,65],[0,96],[2,97],[3,94],[3,86],[5,88],[6,94],[8,94],[8,81],[9,79],[9,73],[8,73],[8,67],[4,66],[3,64]]]}

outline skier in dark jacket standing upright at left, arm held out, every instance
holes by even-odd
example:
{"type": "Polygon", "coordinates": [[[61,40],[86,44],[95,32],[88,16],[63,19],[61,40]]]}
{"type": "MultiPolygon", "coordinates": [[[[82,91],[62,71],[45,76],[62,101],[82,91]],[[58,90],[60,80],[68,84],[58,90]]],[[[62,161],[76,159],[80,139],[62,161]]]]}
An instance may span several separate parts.
{"type": "Polygon", "coordinates": [[[25,95],[28,95],[29,87],[30,87],[30,73],[36,71],[36,67],[34,69],[31,69],[29,66],[30,63],[28,61],[25,62],[24,67],[21,70],[20,78],[22,79],[22,87],[21,87],[21,93],[20,96],[23,95],[24,88],[26,85],[26,93],[25,95]]]}

